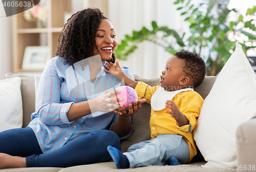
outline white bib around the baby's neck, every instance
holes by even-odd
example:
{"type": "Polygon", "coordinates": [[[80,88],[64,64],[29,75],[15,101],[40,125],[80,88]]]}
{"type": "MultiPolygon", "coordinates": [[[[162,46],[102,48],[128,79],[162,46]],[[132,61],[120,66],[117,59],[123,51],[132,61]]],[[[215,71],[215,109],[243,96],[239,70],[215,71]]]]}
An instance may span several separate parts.
{"type": "Polygon", "coordinates": [[[194,89],[187,88],[176,91],[165,91],[164,88],[159,87],[151,97],[151,107],[154,111],[161,111],[165,108],[166,100],[172,100],[180,92],[194,91],[194,89]]]}

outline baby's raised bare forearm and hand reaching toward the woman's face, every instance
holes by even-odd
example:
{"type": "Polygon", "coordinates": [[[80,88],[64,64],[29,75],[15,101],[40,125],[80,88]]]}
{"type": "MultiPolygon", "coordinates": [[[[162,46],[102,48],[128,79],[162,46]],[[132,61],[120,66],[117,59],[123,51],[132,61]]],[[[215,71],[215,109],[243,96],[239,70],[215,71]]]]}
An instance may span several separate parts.
{"type": "Polygon", "coordinates": [[[105,65],[104,71],[116,76],[120,82],[122,82],[122,80],[124,80],[125,85],[128,85],[128,86],[132,87],[133,89],[135,89],[135,87],[137,85],[137,81],[131,79],[130,77],[125,75],[125,73],[123,73],[121,67],[119,66],[118,61],[116,61],[116,65],[113,64],[112,62],[110,62],[110,63],[107,62],[105,65]]]}

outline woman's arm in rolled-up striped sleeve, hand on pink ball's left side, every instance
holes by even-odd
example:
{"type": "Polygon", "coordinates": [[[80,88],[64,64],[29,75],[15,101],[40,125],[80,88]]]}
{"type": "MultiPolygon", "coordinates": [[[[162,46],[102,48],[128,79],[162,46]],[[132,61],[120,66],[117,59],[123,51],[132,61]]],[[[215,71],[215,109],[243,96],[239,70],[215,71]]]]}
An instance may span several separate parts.
{"type": "MultiPolygon", "coordinates": [[[[32,115],[32,119],[37,116],[44,124],[67,124],[75,119],[89,115],[92,112],[111,112],[114,110],[111,107],[119,107],[117,104],[111,102],[117,101],[116,98],[110,99],[110,97],[115,94],[114,91],[103,93],[89,101],[60,103],[61,89],[67,84],[63,83],[62,85],[62,78],[59,77],[60,73],[58,72],[66,71],[66,66],[61,64],[61,59],[57,57],[47,62],[47,66],[38,84],[36,96],[38,111],[36,114],[32,115]]],[[[114,113],[118,113],[118,111],[115,110],[114,113]]]]}

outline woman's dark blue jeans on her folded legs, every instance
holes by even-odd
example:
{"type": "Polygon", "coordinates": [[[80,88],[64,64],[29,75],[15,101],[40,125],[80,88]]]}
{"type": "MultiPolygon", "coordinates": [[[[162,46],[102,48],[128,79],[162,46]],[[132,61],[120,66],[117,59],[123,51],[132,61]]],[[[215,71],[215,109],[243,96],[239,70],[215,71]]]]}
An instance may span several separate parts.
{"type": "Polygon", "coordinates": [[[109,145],[119,149],[119,137],[112,131],[98,130],[43,154],[30,127],[0,133],[0,153],[26,157],[27,167],[69,167],[108,162],[112,160],[107,150],[109,145]]]}

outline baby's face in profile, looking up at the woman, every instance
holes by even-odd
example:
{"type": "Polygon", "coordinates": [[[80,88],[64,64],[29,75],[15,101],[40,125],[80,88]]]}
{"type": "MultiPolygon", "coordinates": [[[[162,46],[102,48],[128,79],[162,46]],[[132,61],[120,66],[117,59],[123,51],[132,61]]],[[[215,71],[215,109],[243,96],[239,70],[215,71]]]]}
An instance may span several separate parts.
{"type": "Polygon", "coordinates": [[[182,89],[182,85],[180,85],[179,82],[184,76],[184,63],[184,59],[180,59],[176,56],[168,58],[165,70],[160,76],[161,87],[164,88],[164,90],[176,91],[182,89]]]}

